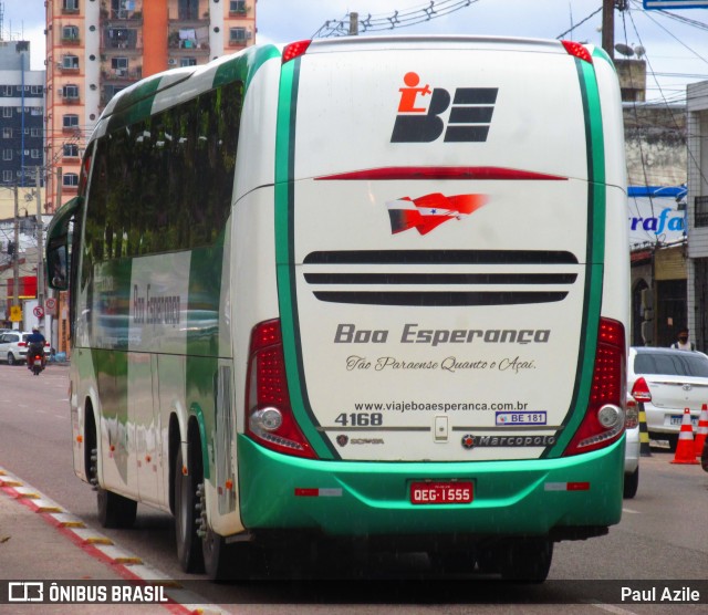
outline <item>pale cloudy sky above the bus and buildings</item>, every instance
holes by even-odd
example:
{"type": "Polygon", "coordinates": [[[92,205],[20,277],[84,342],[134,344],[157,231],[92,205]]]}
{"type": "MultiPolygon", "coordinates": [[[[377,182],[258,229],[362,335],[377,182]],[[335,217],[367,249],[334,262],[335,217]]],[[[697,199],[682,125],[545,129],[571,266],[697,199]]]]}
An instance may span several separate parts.
{"type": "MultiPolygon", "coordinates": [[[[149,1],[149,0],[148,0],[149,1]]],[[[227,0],[223,0],[227,1],[227,0]]],[[[435,0],[433,9],[450,10],[466,0],[435,0]],[[437,6],[437,7],[436,7],[437,6]]],[[[564,39],[600,45],[602,0],[469,0],[467,7],[417,25],[383,30],[377,34],[489,34],[564,39]],[[586,21],[584,21],[586,18],[586,21]],[[582,22],[582,23],[581,23],[582,22]],[[571,28],[573,28],[572,31],[571,28]],[[570,32],[569,32],[570,31],[570,32]]],[[[0,0],[3,39],[31,41],[31,66],[44,67],[44,0],[0,0]]],[[[708,4],[708,2],[706,2],[708,4]]],[[[430,0],[258,0],[258,43],[310,39],[327,20],[346,19],[350,11],[377,19],[421,15],[430,0]]],[[[686,24],[659,11],[645,11],[628,0],[627,11],[615,11],[615,43],[642,45],[648,62],[647,100],[679,102],[686,84],[708,80],[708,8],[670,9],[686,24]]],[[[435,14],[435,13],[434,13],[435,14]]],[[[369,34],[375,35],[375,34],[369,34]]],[[[616,54],[621,58],[621,54],[616,54]]]]}

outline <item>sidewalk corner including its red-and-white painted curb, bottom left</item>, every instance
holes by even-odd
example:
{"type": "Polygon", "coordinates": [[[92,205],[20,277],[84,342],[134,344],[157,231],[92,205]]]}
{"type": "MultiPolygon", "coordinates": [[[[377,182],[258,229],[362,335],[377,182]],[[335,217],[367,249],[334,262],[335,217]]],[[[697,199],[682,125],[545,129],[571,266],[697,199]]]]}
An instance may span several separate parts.
{"type": "Polygon", "coordinates": [[[223,613],[219,607],[199,604],[200,596],[169,581],[160,583],[169,600],[165,604],[52,604],[46,600],[50,590],[55,591],[53,582],[62,587],[98,582],[96,585],[105,584],[110,595],[112,584],[135,587],[160,578],[165,575],[159,571],[121,551],[98,532],[86,529],[80,519],[0,468],[0,614],[223,613]],[[9,602],[10,595],[17,597],[24,592],[23,586],[12,583],[42,581],[42,584],[30,583],[28,591],[33,596],[42,592],[44,602],[9,602]],[[62,584],[62,581],[71,583],[62,584]]]}

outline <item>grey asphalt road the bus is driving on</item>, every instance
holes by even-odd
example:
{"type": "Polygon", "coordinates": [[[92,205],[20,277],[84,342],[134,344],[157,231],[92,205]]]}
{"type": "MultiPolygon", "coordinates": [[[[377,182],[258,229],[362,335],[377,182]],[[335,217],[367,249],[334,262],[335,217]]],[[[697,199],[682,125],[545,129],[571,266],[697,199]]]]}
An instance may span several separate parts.
{"type": "MultiPolygon", "coordinates": [[[[325,569],[295,557],[272,569],[267,581],[211,584],[179,570],[169,515],[140,505],[134,529],[98,527],[95,494],[73,475],[70,440],[66,366],[52,365],[33,377],[23,367],[0,365],[0,467],[166,576],[196,581],[195,591],[230,612],[461,614],[475,605],[491,613],[700,613],[708,604],[708,473],[699,466],[671,465],[668,449],[653,448],[653,456],[642,459],[638,494],[625,500],[623,520],[607,536],[556,544],[543,585],[442,577],[424,554],[345,551],[335,552],[325,569]],[[618,585],[662,591],[669,580],[677,587],[702,581],[701,604],[607,598],[618,585]]],[[[2,561],[0,577],[8,577],[2,561]]]]}

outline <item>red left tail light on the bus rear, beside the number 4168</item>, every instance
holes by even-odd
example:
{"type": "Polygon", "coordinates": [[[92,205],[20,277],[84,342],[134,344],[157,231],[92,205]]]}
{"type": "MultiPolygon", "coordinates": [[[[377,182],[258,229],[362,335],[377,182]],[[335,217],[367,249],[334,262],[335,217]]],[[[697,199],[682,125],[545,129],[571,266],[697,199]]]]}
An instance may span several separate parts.
{"type": "Polygon", "coordinates": [[[285,455],[316,457],[290,406],[279,320],[259,323],[251,331],[246,408],[246,432],[253,440],[285,455]]]}

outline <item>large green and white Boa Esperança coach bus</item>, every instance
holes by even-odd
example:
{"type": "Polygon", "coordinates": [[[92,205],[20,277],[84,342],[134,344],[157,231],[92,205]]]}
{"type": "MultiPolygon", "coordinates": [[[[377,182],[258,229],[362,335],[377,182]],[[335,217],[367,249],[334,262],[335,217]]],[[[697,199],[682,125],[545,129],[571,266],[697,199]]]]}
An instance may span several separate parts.
{"type": "Polygon", "coordinates": [[[102,522],[171,512],[215,578],[289,539],[545,578],[621,518],[625,202],[593,46],[303,41],[121,92],[48,240],[102,522]]]}

